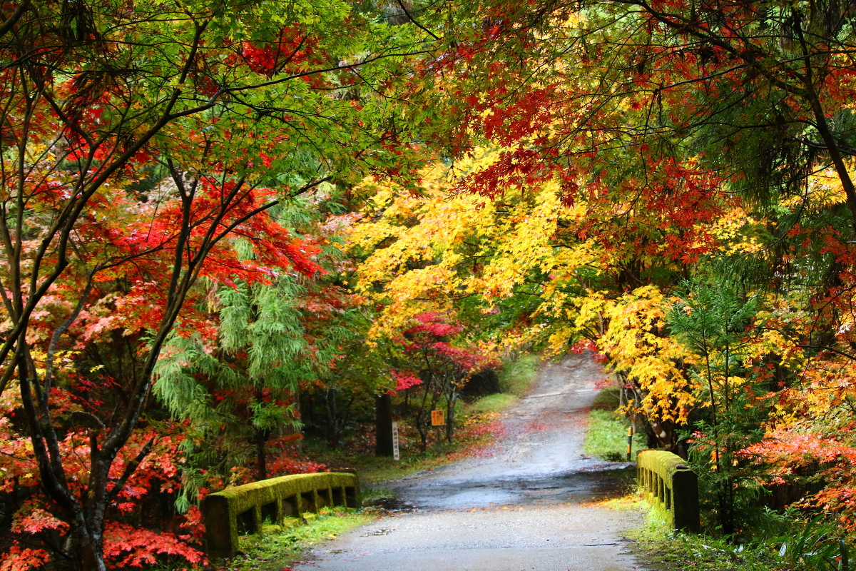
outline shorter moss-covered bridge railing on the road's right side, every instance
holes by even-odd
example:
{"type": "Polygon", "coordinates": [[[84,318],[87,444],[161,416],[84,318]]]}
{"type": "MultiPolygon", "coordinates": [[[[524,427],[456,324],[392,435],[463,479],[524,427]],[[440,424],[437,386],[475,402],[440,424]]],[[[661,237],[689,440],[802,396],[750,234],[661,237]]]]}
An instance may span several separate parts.
{"type": "Polygon", "coordinates": [[[675,529],[698,533],[698,477],[679,455],[642,450],[636,458],[639,491],[659,503],[675,529]]]}

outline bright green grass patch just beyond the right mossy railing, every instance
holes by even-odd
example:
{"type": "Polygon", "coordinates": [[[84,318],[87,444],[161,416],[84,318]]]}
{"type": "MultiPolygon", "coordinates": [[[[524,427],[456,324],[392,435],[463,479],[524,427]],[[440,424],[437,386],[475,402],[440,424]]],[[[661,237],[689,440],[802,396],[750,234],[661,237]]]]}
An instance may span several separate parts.
{"type": "MultiPolygon", "coordinates": [[[[618,407],[618,390],[603,389],[595,397],[588,417],[588,432],[583,450],[599,460],[620,462],[627,460],[627,427],[630,421],[615,413],[618,407]]],[[[645,448],[642,435],[633,435],[633,451],[645,448]]]]}

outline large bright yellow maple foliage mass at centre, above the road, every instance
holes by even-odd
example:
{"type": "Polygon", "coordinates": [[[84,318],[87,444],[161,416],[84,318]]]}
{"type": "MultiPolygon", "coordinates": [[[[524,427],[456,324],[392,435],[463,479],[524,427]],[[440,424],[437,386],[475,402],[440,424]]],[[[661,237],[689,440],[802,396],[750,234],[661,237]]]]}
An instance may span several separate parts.
{"type": "Polygon", "coordinates": [[[496,160],[484,152],[449,169],[424,170],[420,196],[406,189],[366,181],[372,194],[360,223],[348,236],[348,248],[366,256],[358,269],[358,290],[385,305],[372,335],[391,331],[413,315],[452,310],[451,301],[479,296],[484,312],[508,298],[532,276],[542,299],[539,312],[564,312],[569,283],[578,282],[581,265],[597,264],[595,241],[557,246],[557,236],[582,217],[580,207],[562,205],[554,181],[525,192],[508,192],[496,201],[453,193],[456,173],[479,170],[496,160]]]}

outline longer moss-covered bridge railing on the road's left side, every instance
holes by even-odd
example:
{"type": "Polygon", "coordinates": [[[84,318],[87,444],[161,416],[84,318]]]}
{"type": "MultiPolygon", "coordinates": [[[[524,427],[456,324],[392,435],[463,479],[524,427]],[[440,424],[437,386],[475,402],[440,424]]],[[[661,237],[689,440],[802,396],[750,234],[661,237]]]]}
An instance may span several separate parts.
{"type": "Polygon", "coordinates": [[[202,503],[206,551],[212,558],[235,556],[239,533],[261,532],[265,520],[300,520],[304,512],[326,506],[358,508],[359,494],[355,473],[331,472],[264,479],[210,494],[202,503]]]}

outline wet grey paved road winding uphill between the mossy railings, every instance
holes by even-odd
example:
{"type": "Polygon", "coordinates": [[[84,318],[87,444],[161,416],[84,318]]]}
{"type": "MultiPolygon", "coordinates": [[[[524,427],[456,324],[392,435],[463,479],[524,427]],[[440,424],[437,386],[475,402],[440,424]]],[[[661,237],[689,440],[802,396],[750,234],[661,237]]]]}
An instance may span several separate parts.
{"type": "Polygon", "coordinates": [[[582,455],[594,381],[588,355],[545,366],[487,454],[392,484],[413,511],[375,520],[312,552],[295,571],[625,571],[622,532],[642,514],[592,505],[627,464],[582,455]]]}

